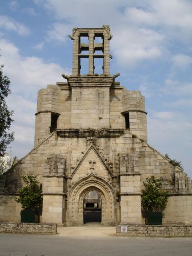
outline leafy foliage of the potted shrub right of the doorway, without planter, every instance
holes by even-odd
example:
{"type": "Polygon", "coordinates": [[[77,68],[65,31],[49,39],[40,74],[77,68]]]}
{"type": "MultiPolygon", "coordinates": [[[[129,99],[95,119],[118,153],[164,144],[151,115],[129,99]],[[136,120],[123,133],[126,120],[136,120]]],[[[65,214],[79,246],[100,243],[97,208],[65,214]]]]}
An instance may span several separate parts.
{"type": "Polygon", "coordinates": [[[162,190],[161,179],[150,176],[143,185],[145,189],[142,190],[142,212],[163,211],[167,205],[168,192],[162,190]]]}

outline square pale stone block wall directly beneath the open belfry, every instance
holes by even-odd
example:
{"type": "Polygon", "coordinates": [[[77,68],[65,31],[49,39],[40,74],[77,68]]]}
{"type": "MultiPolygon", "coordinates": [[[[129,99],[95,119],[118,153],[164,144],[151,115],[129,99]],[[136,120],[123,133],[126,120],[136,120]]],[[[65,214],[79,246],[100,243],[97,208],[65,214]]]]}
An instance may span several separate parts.
{"type": "Polygon", "coordinates": [[[72,88],[71,128],[109,128],[109,88],[72,88]]]}

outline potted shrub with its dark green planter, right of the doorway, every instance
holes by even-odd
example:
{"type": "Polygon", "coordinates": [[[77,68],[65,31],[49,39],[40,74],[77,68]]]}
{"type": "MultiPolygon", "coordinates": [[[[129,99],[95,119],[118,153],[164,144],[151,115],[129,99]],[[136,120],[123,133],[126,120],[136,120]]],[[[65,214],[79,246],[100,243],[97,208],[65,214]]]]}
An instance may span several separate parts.
{"type": "Polygon", "coordinates": [[[162,211],[168,201],[168,192],[162,190],[160,178],[150,176],[143,182],[141,206],[146,225],[162,225],[162,211]]]}

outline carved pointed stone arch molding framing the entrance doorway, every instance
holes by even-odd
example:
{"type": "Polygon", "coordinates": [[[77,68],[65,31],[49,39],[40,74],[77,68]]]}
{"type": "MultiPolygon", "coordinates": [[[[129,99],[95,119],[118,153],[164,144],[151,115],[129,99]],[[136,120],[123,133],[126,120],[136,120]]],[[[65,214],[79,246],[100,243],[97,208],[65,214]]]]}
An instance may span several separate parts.
{"type": "Polygon", "coordinates": [[[93,173],[78,181],[71,189],[67,207],[67,225],[83,225],[83,200],[85,195],[95,190],[102,200],[102,224],[115,223],[115,197],[109,184],[93,173]]]}

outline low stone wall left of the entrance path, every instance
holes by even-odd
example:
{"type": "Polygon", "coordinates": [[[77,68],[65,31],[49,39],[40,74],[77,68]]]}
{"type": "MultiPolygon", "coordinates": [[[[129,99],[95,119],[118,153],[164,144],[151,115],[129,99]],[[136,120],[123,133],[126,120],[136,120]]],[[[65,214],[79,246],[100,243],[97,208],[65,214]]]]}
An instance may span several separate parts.
{"type": "Polygon", "coordinates": [[[0,222],[0,233],[57,234],[57,224],[0,222]]]}

